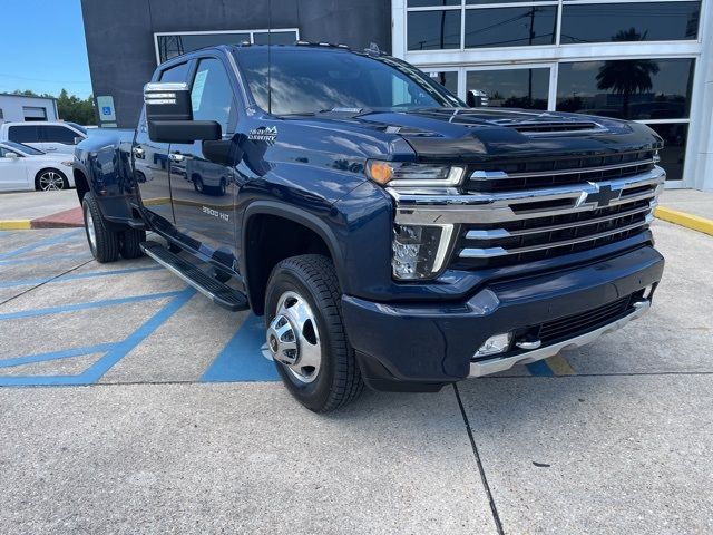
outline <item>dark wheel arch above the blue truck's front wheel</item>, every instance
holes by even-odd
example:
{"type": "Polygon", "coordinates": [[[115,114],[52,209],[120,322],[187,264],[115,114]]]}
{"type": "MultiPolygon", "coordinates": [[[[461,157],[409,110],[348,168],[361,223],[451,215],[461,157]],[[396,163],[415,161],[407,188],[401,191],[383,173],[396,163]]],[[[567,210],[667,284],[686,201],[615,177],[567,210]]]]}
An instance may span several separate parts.
{"type": "Polygon", "coordinates": [[[281,260],[297,254],[319,253],[329,256],[334,263],[342,291],[348,292],[336,236],[323,220],[310,212],[274,201],[254,202],[243,216],[242,244],[240,269],[251,309],[257,315],[264,312],[265,290],[272,269],[281,260]],[[289,226],[281,227],[282,224],[289,226]],[[264,245],[265,239],[270,237],[277,239],[277,247],[264,245]]]}

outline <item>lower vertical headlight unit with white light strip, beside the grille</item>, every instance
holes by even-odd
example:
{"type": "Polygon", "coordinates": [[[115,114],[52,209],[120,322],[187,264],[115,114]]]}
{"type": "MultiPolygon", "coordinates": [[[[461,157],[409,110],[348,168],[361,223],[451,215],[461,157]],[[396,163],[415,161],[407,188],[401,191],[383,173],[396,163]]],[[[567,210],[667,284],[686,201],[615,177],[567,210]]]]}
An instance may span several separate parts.
{"type": "Polygon", "coordinates": [[[395,225],[393,228],[393,276],[401,280],[436,275],[446,260],[453,225],[395,225]]]}

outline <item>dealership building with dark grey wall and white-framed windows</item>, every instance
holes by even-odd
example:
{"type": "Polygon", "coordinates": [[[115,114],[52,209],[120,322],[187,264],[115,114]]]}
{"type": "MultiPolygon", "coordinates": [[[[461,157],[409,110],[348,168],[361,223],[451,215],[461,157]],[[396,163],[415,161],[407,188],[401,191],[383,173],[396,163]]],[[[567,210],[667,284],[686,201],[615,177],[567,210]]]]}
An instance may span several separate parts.
{"type": "Polygon", "coordinates": [[[671,187],[713,189],[713,8],[692,0],[82,0],[104,126],[156,65],[216,43],[375,43],[488,106],[651,126],[671,187]],[[272,8],[272,9],[270,9],[272,8]]]}

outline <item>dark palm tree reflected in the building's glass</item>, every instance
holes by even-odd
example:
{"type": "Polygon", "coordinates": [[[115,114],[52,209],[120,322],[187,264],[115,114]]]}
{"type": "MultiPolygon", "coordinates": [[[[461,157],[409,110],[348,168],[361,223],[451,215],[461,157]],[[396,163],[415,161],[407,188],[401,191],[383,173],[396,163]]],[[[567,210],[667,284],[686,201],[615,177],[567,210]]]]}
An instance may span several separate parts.
{"type": "MultiPolygon", "coordinates": [[[[646,32],[638,33],[634,28],[621,30],[613,41],[644,41],[646,32]]],[[[605,61],[597,74],[597,89],[614,89],[622,95],[624,117],[628,118],[628,104],[632,95],[644,93],[653,87],[652,75],[658,72],[658,64],[651,59],[617,59],[605,61]]]]}

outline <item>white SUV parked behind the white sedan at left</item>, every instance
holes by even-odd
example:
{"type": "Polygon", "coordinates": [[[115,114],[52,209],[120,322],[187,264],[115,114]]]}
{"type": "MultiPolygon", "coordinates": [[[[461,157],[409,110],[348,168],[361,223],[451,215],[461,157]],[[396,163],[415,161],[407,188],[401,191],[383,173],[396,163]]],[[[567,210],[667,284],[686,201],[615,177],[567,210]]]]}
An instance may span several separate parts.
{"type": "Polygon", "coordinates": [[[46,153],[75,154],[77,142],[86,139],[87,136],[87,129],[84,126],[64,120],[0,125],[0,142],[21,143],[46,153]]]}

